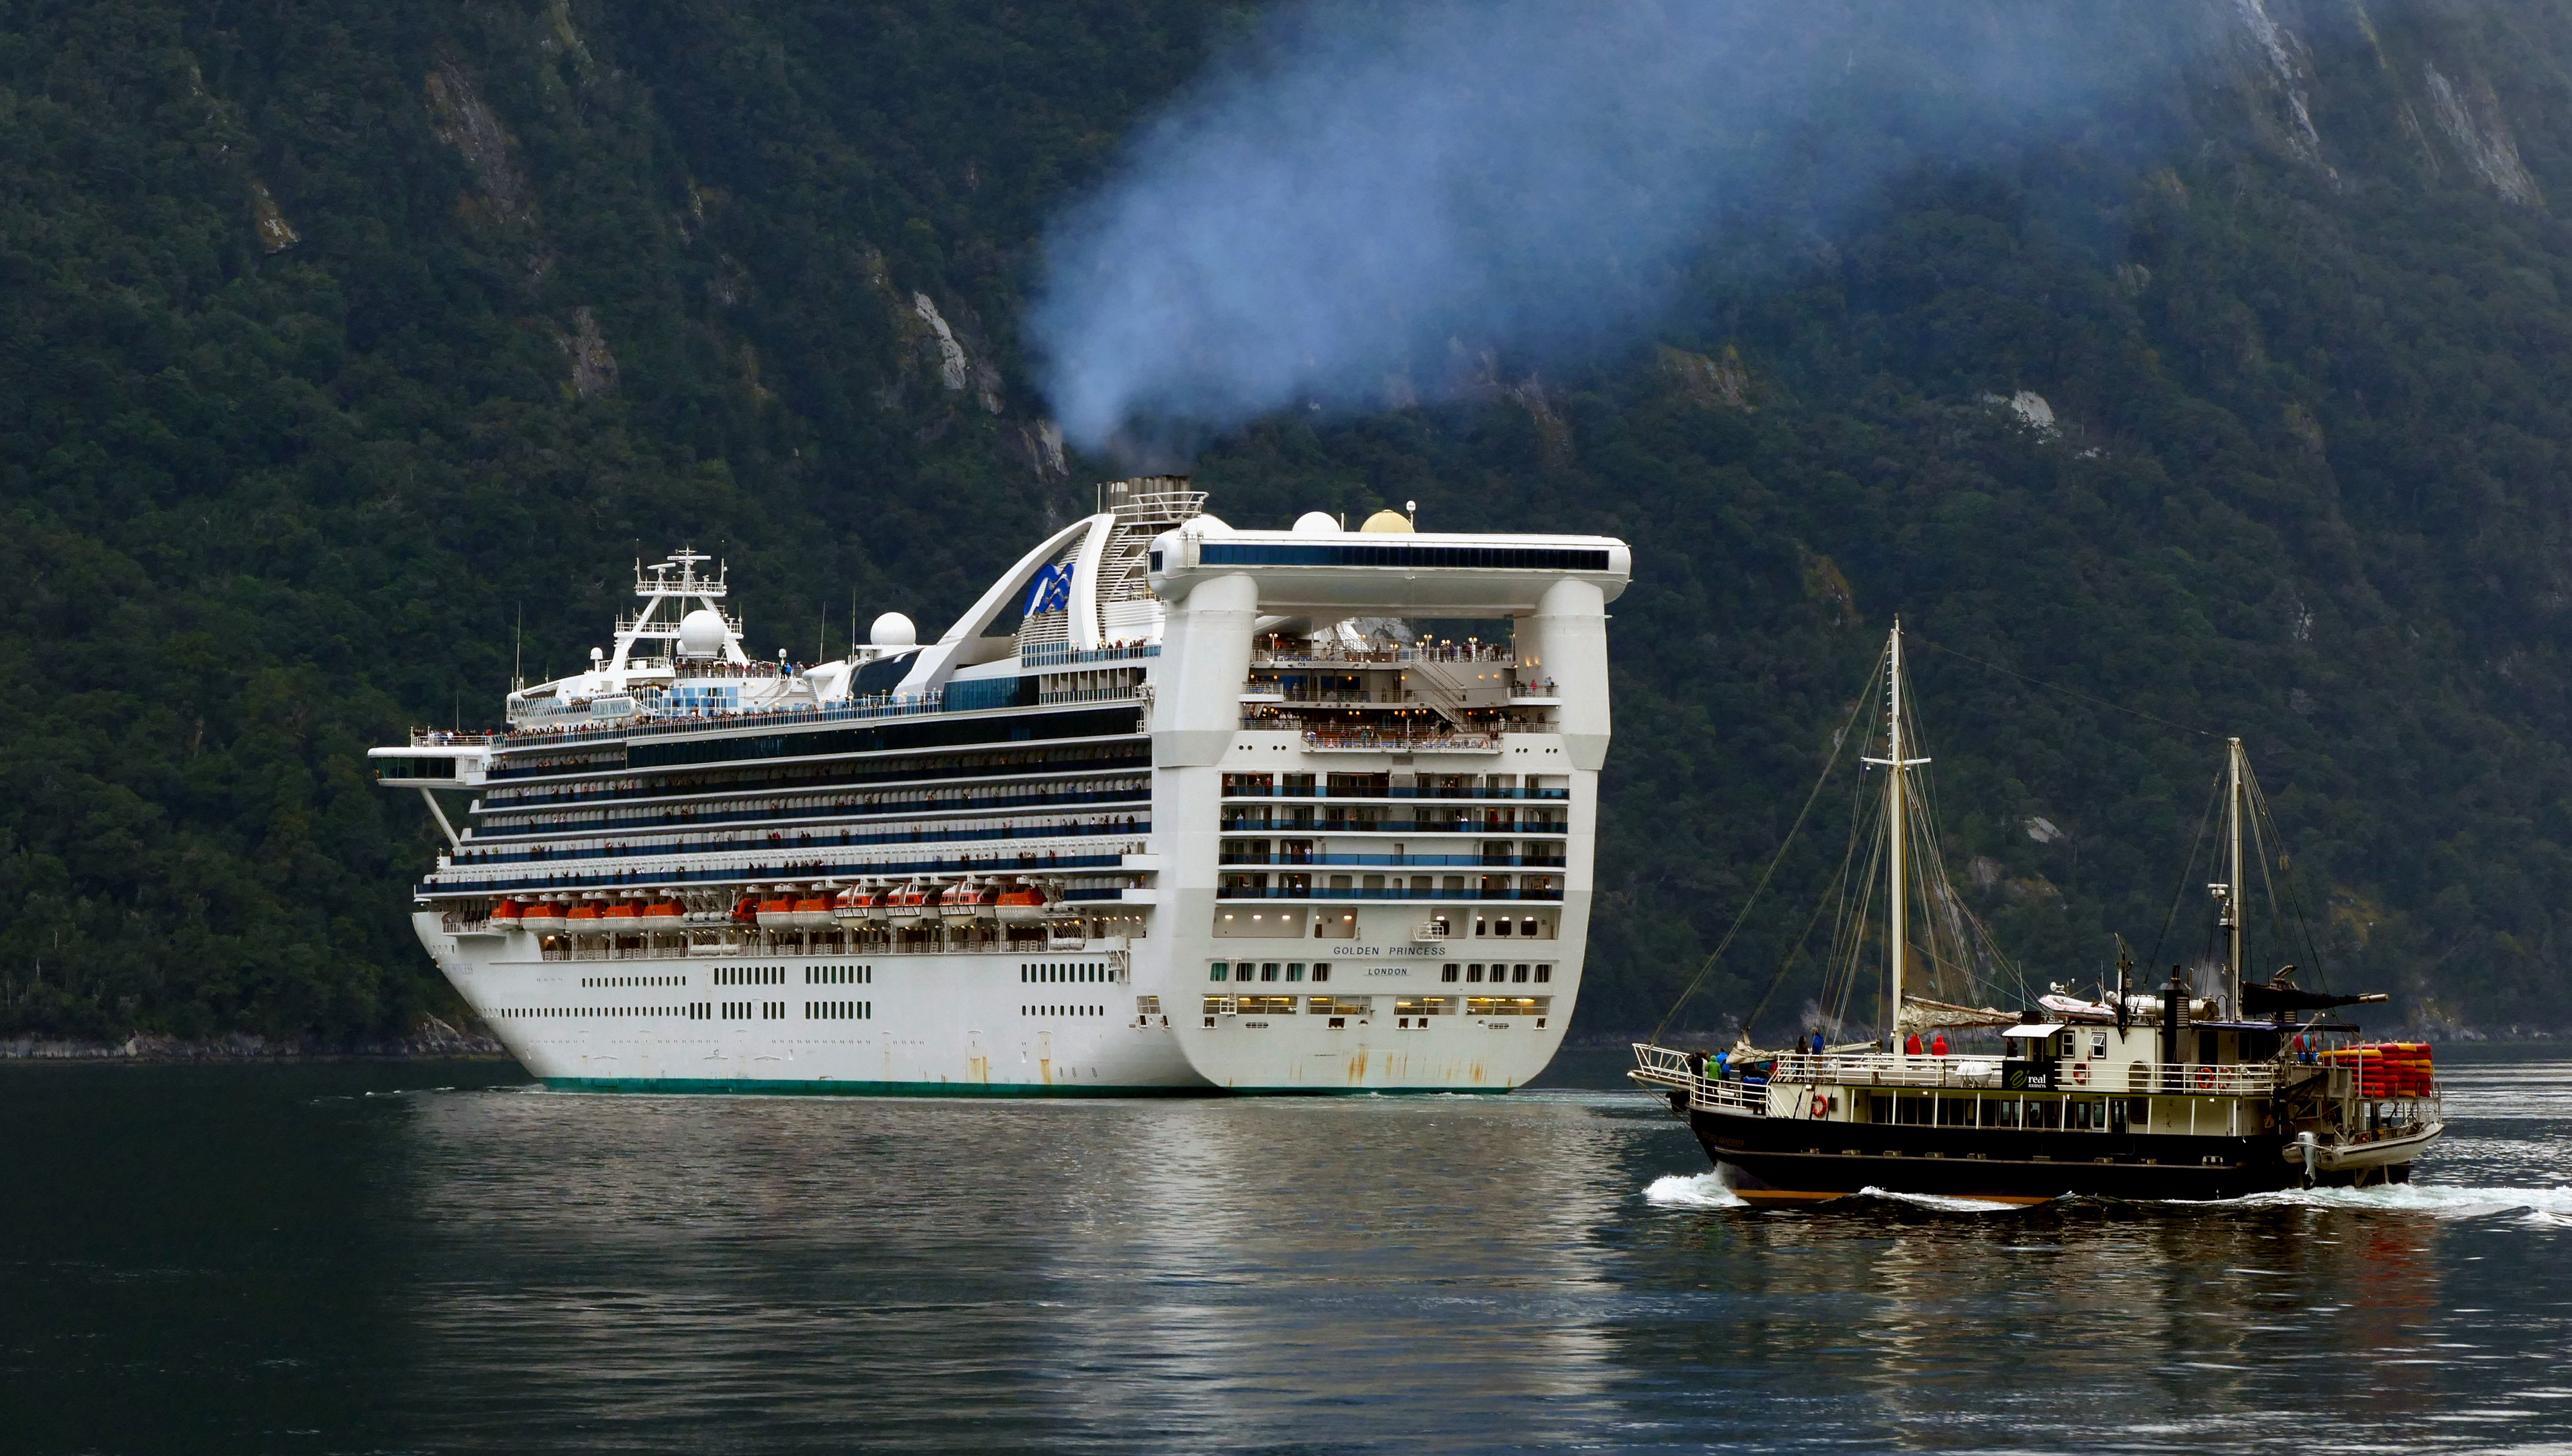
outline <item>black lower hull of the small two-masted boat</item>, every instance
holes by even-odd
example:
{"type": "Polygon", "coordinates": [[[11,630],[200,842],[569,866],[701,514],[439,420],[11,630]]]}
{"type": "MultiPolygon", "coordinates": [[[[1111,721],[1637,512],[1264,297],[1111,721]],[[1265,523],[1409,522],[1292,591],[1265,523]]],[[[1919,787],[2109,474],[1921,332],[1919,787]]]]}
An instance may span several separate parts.
{"type": "MultiPolygon", "coordinates": [[[[1695,1109],[1687,1116],[1734,1194],[1752,1201],[1818,1201],[1883,1188],[2037,1204],[2096,1199],[2240,1199],[2305,1183],[2289,1142],[2132,1132],[1908,1127],[1806,1122],[1695,1109]]],[[[2410,1165],[2315,1178],[2356,1183],[2410,1178],[2410,1165]]]]}

